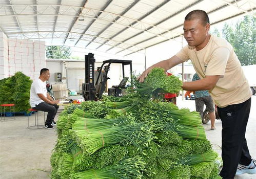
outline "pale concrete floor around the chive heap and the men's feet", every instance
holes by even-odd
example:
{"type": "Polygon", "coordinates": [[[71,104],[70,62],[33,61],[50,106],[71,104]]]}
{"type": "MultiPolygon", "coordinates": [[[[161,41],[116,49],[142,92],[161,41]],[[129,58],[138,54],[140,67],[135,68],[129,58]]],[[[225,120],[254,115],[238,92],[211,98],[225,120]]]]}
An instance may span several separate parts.
{"type": "MultiPolygon", "coordinates": [[[[195,110],[194,101],[179,97],[179,107],[195,110]]],[[[246,138],[251,156],[256,158],[256,96],[252,96],[251,114],[247,125],[246,138]]],[[[58,113],[60,114],[60,113],[58,113]]],[[[43,113],[40,112],[40,119],[43,113]]],[[[30,117],[31,122],[34,115],[30,117]]],[[[43,121],[41,120],[42,124],[43,121]]],[[[32,124],[32,123],[31,123],[32,124]]],[[[216,121],[216,130],[209,130],[210,124],[205,124],[205,131],[213,149],[221,154],[221,121],[216,121]]],[[[0,178],[30,179],[49,178],[51,171],[50,155],[57,139],[55,130],[27,129],[27,117],[16,116],[15,120],[0,122],[0,178]]],[[[256,174],[235,176],[236,179],[255,179],[256,174]]]]}

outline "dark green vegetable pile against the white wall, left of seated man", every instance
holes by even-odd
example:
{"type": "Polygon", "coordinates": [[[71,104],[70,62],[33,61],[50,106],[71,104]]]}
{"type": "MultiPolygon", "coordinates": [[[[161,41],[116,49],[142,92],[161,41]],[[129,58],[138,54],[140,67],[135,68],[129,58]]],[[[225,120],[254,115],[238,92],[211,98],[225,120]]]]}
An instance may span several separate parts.
{"type": "MultiPolygon", "coordinates": [[[[27,111],[30,108],[30,86],[32,80],[22,72],[0,80],[0,103],[15,104],[15,111],[27,111]]],[[[8,107],[6,111],[9,111],[8,107]]]]}

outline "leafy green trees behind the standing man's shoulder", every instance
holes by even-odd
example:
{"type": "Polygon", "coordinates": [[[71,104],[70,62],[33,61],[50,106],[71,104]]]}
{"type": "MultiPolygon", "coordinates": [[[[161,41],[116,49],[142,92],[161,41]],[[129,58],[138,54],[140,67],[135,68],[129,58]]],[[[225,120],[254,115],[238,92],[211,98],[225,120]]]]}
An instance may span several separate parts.
{"type": "Polygon", "coordinates": [[[223,37],[233,46],[242,65],[256,64],[256,18],[245,16],[232,28],[228,24],[222,30],[223,37]]]}

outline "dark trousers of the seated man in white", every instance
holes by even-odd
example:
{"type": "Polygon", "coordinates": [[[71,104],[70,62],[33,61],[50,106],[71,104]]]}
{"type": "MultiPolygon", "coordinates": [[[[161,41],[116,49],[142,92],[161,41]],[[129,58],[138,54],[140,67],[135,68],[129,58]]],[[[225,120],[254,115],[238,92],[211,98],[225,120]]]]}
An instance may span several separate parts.
{"type": "Polygon", "coordinates": [[[39,103],[38,105],[35,105],[33,109],[48,112],[45,124],[51,124],[51,122],[54,120],[56,116],[58,106],[56,104],[52,105],[52,104],[48,104],[47,102],[42,102],[42,103],[39,103]]]}

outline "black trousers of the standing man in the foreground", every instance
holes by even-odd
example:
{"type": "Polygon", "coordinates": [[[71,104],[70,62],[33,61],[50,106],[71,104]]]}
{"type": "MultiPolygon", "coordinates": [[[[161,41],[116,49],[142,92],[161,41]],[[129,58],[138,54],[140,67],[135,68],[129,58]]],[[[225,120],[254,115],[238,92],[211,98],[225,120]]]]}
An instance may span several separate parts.
{"type": "Polygon", "coordinates": [[[234,178],[238,164],[249,165],[251,156],[245,139],[246,125],[251,107],[251,98],[240,104],[218,107],[222,121],[222,160],[220,175],[234,178]]]}

